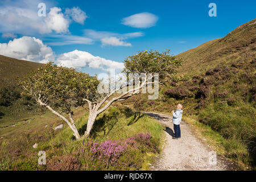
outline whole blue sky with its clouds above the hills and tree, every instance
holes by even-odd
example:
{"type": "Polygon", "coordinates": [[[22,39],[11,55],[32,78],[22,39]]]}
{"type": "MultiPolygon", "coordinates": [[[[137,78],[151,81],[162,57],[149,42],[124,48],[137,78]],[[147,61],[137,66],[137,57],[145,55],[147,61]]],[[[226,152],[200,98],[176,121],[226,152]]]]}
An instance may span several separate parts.
{"type": "Polygon", "coordinates": [[[93,75],[121,69],[118,63],[137,51],[168,48],[176,55],[222,38],[254,19],[255,5],[252,0],[3,0],[0,54],[41,63],[53,60],[93,75]],[[37,15],[39,3],[46,4],[45,17],[37,15]],[[208,15],[209,3],[216,3],[216,17],[208,15]]]}

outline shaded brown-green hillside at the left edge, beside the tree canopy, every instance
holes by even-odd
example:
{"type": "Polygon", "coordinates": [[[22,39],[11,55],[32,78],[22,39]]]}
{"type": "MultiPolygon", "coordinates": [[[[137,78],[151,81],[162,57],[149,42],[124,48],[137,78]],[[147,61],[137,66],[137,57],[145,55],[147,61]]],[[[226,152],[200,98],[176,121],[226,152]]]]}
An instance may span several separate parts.
{"type": "Polygon", "coordinates": [[[21,88],[16,80],[43,65],[0,55],[0,127],[14,125],[38,113],[30,97],[20,98],[21,88]]]}

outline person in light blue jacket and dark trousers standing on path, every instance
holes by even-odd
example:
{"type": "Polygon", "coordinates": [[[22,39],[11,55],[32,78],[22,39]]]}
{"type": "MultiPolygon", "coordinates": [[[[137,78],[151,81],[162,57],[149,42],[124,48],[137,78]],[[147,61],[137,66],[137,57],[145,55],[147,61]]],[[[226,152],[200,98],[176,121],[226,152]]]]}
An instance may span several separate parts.
{"type": "Polygon", "coordinates": [[[182,105],[178,104],[176,111],[172,110],[172,122],[174,123],[174,137],[172,139],[178,139],[181,138],[180,135],[180,122],[181,122],[181,117],[182,117],[182,105]]]}

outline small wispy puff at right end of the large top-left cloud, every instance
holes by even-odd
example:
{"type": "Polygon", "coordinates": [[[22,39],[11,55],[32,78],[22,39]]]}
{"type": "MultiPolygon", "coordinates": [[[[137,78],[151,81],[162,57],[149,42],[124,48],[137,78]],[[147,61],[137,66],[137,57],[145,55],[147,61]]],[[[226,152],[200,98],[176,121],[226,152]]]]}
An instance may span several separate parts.
{"type": "Polygon", "coordinates": [[[73,7],[72,9],[65,9],[65,14],[71,16],[71,19],[77,23],[84,24],[84,21],[88,16],[79,7],[73,7]]]}

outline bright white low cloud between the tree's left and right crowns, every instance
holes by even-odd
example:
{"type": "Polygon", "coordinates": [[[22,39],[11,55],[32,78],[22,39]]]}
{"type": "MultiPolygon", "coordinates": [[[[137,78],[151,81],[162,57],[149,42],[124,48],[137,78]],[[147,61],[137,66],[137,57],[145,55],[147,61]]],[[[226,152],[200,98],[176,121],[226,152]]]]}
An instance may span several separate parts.
{"type": "Polygon", "coordinates": [[[57,57],[58,65],[63,65],[68,68],[81,69],[83,67],[102,69],[108,71],[109,69],[123,69],[123,63],[117,61],[106,60],[99,56],[93,56],[85,51],[72,51],[63,53],[57,57]]]}

